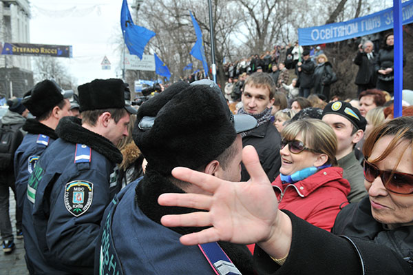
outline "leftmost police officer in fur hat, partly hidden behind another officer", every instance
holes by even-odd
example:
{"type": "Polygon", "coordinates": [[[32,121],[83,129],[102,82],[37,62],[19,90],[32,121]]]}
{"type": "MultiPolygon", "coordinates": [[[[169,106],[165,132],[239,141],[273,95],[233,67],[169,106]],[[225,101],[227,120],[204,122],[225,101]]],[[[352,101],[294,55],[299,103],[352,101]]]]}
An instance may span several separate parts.
{"type": "MultiPolygon", "coordinates": [[[[23,130],[28,132],[24,136],[21,145],[14,153],[14,175],[16,176],[17,204],[23,212],[31,213],[30,205],[25,210],[23,203],[26,200],[28,179],[33,172],[36,161],[47,146],[52,144],[57,135],[54,132],[57,124],[63,116],[70,116],[70,102],[68,98],[73,95],[72,91],[63,91],[54,81],[44,80],[25,94],[23,105],[30,111],[34,119],[27,119],[23,124],[23,130]]],[[[27,226],[31,227],[30,214],[23,214],[22,230],[25,236],[26,254],[34,257],[39,252],[34,247],[28,246],[28,241],[34,236],[28,234],[27,226]],[[28,220],[29,218],[29,220],[28,220]]],[[[30,266],[27,262],[28,267],[30,266]]]]}

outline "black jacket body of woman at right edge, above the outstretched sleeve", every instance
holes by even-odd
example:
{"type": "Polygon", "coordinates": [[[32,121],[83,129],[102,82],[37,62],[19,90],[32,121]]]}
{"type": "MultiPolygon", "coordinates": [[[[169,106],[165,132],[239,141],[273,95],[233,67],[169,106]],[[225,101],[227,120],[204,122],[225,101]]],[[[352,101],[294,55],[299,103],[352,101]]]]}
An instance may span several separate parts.
{"type": "Polygon", "coordinates": [[[394,230],[383,229],[383,224],[372,216],[368,196],[359,203],[350,203],[339,212],[332,233],[385,245],[413,267],[413,225],[397,227],[394,230]]]}

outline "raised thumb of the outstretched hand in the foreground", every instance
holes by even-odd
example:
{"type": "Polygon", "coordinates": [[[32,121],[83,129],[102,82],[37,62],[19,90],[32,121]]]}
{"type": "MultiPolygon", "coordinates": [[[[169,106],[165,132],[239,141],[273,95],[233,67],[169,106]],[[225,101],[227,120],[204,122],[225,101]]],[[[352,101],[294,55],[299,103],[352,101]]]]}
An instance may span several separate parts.
{"type": "Polygon", "coordinates": [[[262,169],[257,151],[253,146],[246,145],[242,150],[242,163],[244,163],[252,181],[266,184],[269,182],[268,176],[262,169]]]}

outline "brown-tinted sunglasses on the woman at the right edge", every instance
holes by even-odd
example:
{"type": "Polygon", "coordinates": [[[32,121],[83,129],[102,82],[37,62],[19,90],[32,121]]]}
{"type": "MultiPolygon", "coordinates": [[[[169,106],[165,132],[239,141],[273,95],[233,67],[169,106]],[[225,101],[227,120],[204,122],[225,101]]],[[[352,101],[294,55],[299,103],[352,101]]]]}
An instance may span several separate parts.
{"type": "Polygon", "coordinates": [[[378,176],[388,191],[396,194],[413,194],[413,174],[379,170],[364,159],[364,179],[372,183],[378,176]]]}

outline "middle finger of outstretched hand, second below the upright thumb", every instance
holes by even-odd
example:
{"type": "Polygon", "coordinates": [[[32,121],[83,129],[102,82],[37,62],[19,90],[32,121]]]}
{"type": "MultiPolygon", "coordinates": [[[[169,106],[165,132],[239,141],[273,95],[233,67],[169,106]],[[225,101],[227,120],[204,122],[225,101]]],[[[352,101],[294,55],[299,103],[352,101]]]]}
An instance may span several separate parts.
{"type": "Polygon", "coordinates": [[[165,193],[159,196],[158,203],[165,206],[180,206],[209,210],[212,199],[211,196],[202,194],[165,193]]]}

